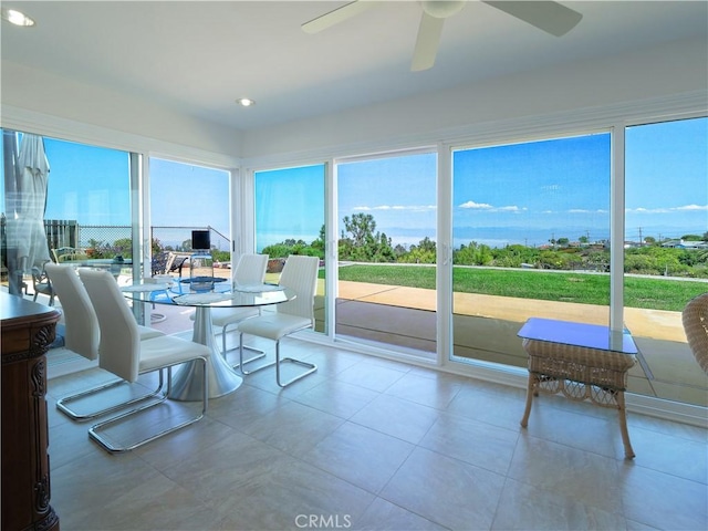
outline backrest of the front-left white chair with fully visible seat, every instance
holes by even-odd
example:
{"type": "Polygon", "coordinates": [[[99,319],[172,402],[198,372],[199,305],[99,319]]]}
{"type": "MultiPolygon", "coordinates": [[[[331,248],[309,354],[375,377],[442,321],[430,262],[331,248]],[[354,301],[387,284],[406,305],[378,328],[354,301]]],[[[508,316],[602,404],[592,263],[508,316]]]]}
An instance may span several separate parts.
{"type": "Polygon", "coordinates": [[[101,325],[98,366],[127,381],[137,381],[140,332],[127,301],[108,271],[80,269],[101,325]]]}

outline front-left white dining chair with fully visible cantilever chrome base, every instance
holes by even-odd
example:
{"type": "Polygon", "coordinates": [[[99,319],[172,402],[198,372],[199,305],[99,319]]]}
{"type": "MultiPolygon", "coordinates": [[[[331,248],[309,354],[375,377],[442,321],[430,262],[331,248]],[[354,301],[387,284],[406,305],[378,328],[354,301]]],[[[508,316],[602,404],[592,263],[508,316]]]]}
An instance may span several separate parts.
{"type": "Polygon", "coordinates": [[[167,369],[167,389],[156,396],[155,400],[92,426],[88,429],[88,436],[110,452],[127,451],[201,419],[207,412],[209,402],[207,369],[209,347],[173,335],[140,340],[135,317],[111,273],[82,269],[79,274],[98,319],[101,329],[100,366],[131,383],[137,382],[140,374],[158,372],[159,389],[163,387],[164,372],[167,369]],[[177,420],[163,427],[163,423],[166,423],[167,418],[153,418],[149,416],[148,409],[167,399],[171,386],[171,368],[175,365],[192,361],[200,362],[202,377],[200,412],[184,420],[181,413],[175,415],[174,418],[177,420]],[[129,420],[133,421],[129,423],[129,420]],[[126,423],[129,423],[129,427],[123,426],[122,434],[133,436],[137,431],[146,430],[149,435],[143,433],[135,437],[136,440],[125,444],[118,442],[117,436],[106,433],[111,428],[126,423]]]}

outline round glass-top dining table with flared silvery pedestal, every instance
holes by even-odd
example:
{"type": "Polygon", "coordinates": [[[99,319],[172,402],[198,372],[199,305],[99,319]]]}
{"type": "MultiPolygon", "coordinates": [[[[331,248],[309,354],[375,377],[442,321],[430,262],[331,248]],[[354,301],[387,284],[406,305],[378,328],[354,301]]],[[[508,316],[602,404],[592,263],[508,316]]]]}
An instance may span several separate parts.
{"type": "MultiPolygon", "coordinates": [[[[191,341],[207,345],[211,355],[207,364],[209,398],[228,395],[243,382],[241,375],[227,362],[215,339],[211,322],[212,308],[256,308],[280,304],[295,298],[295,291],[277,284],[239,285],[231,282],[214,282],[209,291],[195,291],[189,279],[174,279],[173,282],[136,282],[121,289],[134,301],[149,304],[177,304],[195,308],[195,324],[191,341]]],[[[201,365],[196,362],[183,364],[173,377],[169,397],[176,400],[201,399],[201,365]]]]}

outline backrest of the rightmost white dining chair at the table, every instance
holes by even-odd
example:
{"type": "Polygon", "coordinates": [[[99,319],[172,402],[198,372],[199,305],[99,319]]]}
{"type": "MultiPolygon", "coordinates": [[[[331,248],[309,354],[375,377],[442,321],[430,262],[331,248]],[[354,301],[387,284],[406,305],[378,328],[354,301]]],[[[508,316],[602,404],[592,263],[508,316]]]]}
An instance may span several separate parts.
{"type": "Polygon", "coordinates": [[[314,326],[314,294],[317,289],[317,257],[291,254],[280,273],[280,285],[294,290],[298,296],[275,306],[278,313],[289,313],[312,320],[314,326]]]}

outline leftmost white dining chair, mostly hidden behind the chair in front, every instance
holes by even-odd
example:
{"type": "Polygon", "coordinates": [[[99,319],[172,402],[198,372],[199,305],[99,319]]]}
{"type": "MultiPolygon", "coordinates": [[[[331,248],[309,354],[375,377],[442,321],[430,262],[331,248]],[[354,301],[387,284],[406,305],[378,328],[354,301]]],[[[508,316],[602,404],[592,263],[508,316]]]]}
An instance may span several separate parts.
{"type": "MultiPolygon", "coordinates": [[[[86,289],[81,283],[81,280],[79,280],[76,270],[72,266],[52,262],[46,263],[44,269],[61,302],[65,329],[64,346],[62,348],[79,354],[88,361],[96,360],[98,357],[98,345],[101,341],[98,320],[88,293],[86,293],[86,289]]],[[[163,332],[147,326],[138,326],[138,332],[140,340],[165,335],[163,332]]],[[[159,392],[159,389],[156,389],[155,392],[134,397],[129,402],[87,412],[81,412],[76,409],[75,406],[71,406],[72,404],[75,405],[79,400],[83,403],[88,396],[118,385],[125,385],[125,382],[122,378],[112,379],[105,384],[64,396],[56,400],[56,408],[73,420],[90,420],[131,404],[150,398],[159,392]]]]}

